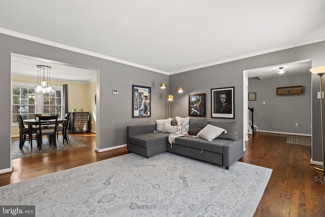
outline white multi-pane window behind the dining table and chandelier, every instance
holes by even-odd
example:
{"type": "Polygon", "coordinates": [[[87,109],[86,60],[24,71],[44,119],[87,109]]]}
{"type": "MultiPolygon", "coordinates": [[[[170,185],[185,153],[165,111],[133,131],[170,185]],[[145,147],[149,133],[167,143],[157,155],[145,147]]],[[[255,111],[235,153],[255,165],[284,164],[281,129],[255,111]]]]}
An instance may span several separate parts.
{"type": "Polygon", "coordinates": [[[13,86],[12,122],[18,122],[19,114],[22,115],[23,119],[33,119],[35,113],[58,115],[61,118],[61,91],[60,89],[53,89],[50,93],[42,94],[36,93],[35,87],[13,86]]]}

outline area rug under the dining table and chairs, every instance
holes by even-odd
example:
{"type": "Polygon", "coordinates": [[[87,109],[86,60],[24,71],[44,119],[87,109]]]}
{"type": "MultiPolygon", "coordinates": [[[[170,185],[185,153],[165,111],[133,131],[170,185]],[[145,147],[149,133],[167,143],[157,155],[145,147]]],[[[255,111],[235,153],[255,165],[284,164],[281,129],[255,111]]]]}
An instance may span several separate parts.
{"type": "Polygon", "coordinates": [[[31,157],[31,156],[37,156],[44,153],[51,153],[56,151],[62,151],[62,150],[68,150],[68,149],[74,149],[74,148],[81,148],[88,146],[87,144],[84,144],[77,139],[75,139],[72,136],[69,136],[69,143],[67,141],[64,141],[63,144],[63,138],[62,136],[59,136],[56,140],[56,148],[54,146],[51,146],[49,144],[49,140],[47,138],[43,138],[42,143],[42,149],[39,150],[37,148],[36,141],[32,141],[32,149],[30,149],[30,144],[28,141],[25,141],[24,146],[22,147],[22,150],[19,149],[19,141],[13,141],[11,142],[11,159],[17,159],[17,158],[25,158],[25,157],[31,157]]]}

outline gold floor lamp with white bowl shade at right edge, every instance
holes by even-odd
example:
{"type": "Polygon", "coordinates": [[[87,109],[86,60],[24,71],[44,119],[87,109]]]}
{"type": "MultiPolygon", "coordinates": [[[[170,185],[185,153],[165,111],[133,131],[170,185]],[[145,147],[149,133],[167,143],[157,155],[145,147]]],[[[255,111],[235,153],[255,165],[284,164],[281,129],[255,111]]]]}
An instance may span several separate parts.
{"type": "MultiPolygon", "coordinates": [[[[325,74],[325,66],[316,67],[310,69],[310,72],[319,76],[320,81],[320,122],[321,122],[321,155],[322,155],[322,167],[314,167],[316,170],[320,170],[324,172],[324,132],[323,132],[323,96],[322,96],[322,82],[321,77],[325,74]]],[[[325,176],[325,173],[324,173],[325,176]]]]}

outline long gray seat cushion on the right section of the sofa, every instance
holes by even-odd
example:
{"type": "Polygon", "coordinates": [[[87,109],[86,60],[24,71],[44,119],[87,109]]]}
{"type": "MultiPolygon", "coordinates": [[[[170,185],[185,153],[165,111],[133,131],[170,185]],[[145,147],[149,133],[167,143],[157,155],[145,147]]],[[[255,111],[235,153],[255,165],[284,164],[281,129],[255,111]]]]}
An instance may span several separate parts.
{"type": "Polygon", "coordinates": [[[192,137],[192,136],[193,135],[191,135],[190,137],[178,137],[175,139],[175,143],[186,147],[191,147],[199,150],[206,150],[206,151],[222,154],[222,146],[229,142],[232,142],[231,140],[219,139],[219,138],[216,138],[211,142],[209,142],[207,140],[197,138],[197,137],[192,137]]]}

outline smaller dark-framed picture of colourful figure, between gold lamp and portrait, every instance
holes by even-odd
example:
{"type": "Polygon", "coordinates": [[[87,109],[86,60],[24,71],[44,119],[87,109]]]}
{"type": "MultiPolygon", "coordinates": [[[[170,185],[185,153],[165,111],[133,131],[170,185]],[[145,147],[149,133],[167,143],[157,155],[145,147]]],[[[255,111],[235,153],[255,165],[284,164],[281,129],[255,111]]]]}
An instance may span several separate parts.
{"type": "Polygon", "coordinates": [[[205,117],[205,94],[188,95],[188,116],[205,117]]]}

